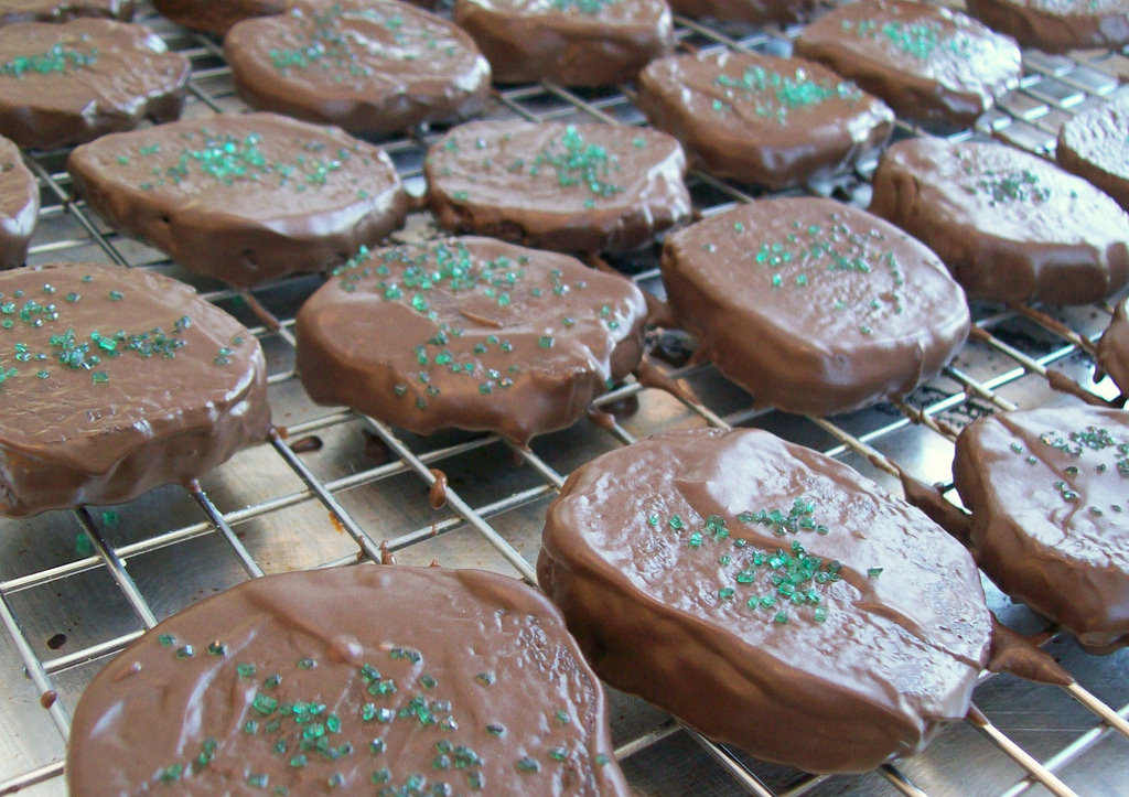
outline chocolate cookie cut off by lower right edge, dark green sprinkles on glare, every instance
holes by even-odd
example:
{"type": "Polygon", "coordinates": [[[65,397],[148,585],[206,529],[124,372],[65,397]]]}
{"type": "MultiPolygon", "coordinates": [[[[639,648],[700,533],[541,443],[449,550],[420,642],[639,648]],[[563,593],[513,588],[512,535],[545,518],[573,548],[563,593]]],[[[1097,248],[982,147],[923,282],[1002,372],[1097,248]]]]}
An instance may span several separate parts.
{"type": "Polygon", "coordinates": [[[1122,411],[1070,404],[982,418],[953,462],[977,562],[1092,653],[1129,643],[1126,444],[1122,411]]]}

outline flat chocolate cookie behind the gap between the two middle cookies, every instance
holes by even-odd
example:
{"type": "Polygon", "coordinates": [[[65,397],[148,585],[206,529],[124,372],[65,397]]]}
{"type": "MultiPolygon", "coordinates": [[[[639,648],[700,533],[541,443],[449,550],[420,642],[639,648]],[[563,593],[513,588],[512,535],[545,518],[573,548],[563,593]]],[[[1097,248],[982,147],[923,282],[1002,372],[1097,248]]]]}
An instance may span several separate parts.
{"type": "Polygon", "coordinates": [[[632,249],[689,219],[685,170],[666,133],[563,122],[471,122],[423,164],[447,229],[584,253],[632,249]]]}

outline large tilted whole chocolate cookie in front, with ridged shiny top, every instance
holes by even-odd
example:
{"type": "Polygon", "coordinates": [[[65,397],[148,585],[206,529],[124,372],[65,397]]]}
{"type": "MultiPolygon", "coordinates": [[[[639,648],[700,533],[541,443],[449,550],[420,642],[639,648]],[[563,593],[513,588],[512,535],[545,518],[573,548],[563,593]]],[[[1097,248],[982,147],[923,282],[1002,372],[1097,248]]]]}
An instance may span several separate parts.
{"type": "Polygon", "coordinates": [[[569,476],[543,543],[539,580],[601,677],[812,772],[921,750],[964,716],[988,659],[968,552],[765,431],[668,432],[598,457],[569,476]]]}

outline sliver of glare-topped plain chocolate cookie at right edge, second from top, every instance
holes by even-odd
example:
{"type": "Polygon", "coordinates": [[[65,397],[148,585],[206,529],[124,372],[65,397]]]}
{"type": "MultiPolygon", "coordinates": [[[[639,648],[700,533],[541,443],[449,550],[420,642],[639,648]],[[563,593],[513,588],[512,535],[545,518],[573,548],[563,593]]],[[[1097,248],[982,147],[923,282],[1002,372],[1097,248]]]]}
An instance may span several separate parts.
{"type": "Polygon", "coordinates": [[[1110,99],[1059,130],[1059,166],[1085,177],[1129,211],[1129,97],[1110,99]]]}

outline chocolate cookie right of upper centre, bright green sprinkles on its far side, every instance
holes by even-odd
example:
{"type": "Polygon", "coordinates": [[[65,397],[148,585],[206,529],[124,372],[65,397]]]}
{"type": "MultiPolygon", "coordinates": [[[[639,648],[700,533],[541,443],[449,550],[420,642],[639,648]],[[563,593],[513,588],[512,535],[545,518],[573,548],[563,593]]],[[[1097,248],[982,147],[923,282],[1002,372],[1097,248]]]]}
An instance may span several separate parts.
{"type": "Polygon", "coordinates": [[[874,155],[894,125],[882,100],[831,70],[750,52],[654,61],[637,104],[707,172],[772,189],[874,155]]]}

